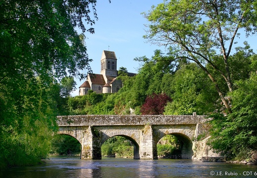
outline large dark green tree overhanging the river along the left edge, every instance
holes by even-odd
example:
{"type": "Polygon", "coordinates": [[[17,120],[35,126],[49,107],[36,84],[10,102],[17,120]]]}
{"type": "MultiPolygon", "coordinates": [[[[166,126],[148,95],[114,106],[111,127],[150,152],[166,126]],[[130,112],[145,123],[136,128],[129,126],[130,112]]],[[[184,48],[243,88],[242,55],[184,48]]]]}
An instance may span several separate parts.
{"type": "Polygon", "coordinates": [[[0,1],[0,166],[46,157],[56,129],[55,79],[91,71],[85,35],[74,28],[94,33],[95,6],[96,0],[0,1]]]}

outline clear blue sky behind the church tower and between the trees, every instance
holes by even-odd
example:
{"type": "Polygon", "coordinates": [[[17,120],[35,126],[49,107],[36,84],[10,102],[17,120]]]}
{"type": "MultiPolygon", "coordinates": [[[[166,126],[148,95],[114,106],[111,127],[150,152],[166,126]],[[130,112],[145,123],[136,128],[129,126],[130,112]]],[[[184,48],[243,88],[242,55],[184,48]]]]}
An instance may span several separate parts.
{"type": "MultiPolygon", "coordinates": [[[[100,74],[100,59],[103,50],[114,51],[117,57],[117,69],[126,67],[128,72],[137,73],[139,63],[134,61],[135,57],[146,55],[151,58],[155,49],[161,49],[163,46],[151,45],[146,43],[143,35],[146,34],[144,24],[149,24],[143,17],[142,12],[151,10],[152,5],[156,6],[163,0],[98,0],[97,14],[98,21],[93,26],[95,34],[85,33],[87,52],[89,58],[93,59],[90,66],[94,73],[100,74]]],[[[242,37],[238,45],[246,39],[242,37]]],[[[251,47],[256,51],[256,36],[247,39],[251,47]]],[[[235,45],[234,45],[235,47],[235,45]]],[[[83,71],[87,73],[87,71],[83,71]]],[[[72,96],[78,95],[78,88],[85,81],[75,79],[77,86],[72,92],[72,96]]]]}

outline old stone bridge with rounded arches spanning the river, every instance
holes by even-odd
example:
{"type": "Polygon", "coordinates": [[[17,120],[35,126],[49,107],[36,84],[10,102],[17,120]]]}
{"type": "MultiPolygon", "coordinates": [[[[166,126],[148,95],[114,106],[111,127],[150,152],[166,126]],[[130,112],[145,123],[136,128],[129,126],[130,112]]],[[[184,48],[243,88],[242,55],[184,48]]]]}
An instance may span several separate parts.
{"type": "Polygon", "coordinates": [[[208,146],[209,118],[193,115],[77,115],[57,116],[57,134],[68,134],[82,146],[82,159],[101,159],[101,146],[112,136],[134,145],[134,159],[157,159],[157,142],[172,134],[182,143],[183,159],[217,157],[208,146]],[[201,140],[201,141],[199,141],[201,140]]]}

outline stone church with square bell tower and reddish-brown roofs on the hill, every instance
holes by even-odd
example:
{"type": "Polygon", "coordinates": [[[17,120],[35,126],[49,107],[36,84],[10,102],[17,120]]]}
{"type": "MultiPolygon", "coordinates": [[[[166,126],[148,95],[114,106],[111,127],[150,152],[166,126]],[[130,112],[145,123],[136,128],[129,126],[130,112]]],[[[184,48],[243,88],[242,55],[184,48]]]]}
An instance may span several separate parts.
{"type": "MultiPolygon", "coordinates": [[[[88,74],[87,80],[79,87],[79,95],[85,95],[92,89],[96,93],[115,93],[122,88],[117,79],[117,57],[115,52],[103,50],[101,57],[101,74],[88,74]]],[[[128,73],[129,76],[136,74],[128,73]]]]}

